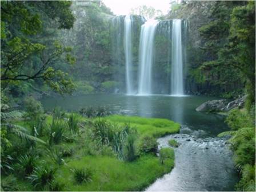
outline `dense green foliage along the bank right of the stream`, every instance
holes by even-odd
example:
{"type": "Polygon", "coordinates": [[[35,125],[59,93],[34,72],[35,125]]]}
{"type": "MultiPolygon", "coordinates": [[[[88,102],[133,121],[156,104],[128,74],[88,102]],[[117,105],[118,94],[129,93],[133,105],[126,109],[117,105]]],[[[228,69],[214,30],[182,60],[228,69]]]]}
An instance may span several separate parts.
{"type": "Polygon", "coordinates": [[[234,152],[234,162],[241,174],[237,191],[255,191],[255,107],[250,112],[233,109],[226,119],[231,131],[218,136],[231,135],[229,143],[234,152]]]}

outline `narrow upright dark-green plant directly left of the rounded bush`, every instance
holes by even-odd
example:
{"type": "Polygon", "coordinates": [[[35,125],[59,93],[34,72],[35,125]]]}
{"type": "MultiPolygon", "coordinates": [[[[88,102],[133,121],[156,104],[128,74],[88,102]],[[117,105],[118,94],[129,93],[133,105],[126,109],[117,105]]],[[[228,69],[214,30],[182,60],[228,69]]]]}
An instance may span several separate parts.
{"type": "Polygon", "coordinates": [[[127,141],[126,141],[125,149],[123,152],[125,161],[134,161],[136,158],[134,142],[135,142],[135,134],[129,134],[127,136],[127,141]]]}

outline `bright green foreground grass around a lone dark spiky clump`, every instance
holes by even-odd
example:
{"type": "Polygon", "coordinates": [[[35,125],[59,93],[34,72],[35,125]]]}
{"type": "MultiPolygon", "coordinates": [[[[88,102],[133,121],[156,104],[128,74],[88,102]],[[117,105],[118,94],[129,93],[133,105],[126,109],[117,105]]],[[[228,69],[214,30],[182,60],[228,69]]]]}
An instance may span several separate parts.
{"type": "Polygon", "coordinates": [[[169,173],[173,166],[173,159],[161,165],[159,158],[151,155],[142,156],[134,162],[123,162],[107,156],[86,156],[62,165],[57,171],[57,181],[66,183],[66,190],[70,191],[139,191],[169,173]],[[91,168],[92,181],[76,183],[70,168],[91,168]]]}

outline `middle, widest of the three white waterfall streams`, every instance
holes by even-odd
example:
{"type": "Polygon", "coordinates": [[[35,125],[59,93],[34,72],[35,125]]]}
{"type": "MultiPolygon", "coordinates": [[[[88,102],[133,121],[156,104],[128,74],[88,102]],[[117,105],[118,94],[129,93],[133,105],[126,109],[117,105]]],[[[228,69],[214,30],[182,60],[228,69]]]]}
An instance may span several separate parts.
{"type": "Polygon", "coordinates": [[[151,68],[154,56],[154,34],[157,24],[158,21],[149,20],[141,27],[139,38],[138,95],[151,94],[151,68]]]}

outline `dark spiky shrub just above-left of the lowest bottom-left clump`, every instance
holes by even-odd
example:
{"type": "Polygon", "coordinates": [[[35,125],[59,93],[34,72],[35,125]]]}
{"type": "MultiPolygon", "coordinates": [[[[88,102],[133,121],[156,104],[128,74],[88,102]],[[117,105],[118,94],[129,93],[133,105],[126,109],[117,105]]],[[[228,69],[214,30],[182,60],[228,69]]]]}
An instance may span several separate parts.
{"type": "Polygon", "coordinates": [[[18,162],[20,170],[22,170],[25,175],[30,175],[37,165],[37,158],[37,156],[27,154],[21,156],[18,162]]]}

